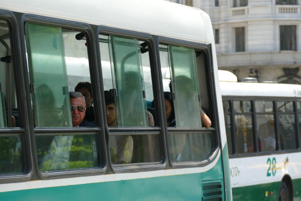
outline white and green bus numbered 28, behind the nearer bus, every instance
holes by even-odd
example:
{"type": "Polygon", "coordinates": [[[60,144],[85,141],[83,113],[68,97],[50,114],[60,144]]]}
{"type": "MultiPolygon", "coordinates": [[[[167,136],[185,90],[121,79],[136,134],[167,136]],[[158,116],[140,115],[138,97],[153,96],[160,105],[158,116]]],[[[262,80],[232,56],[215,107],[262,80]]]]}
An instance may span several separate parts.
{"type": "Polygon", "coordinates": [[[301,86],[219,75],[233,200],[300,200],[301,86]]]}

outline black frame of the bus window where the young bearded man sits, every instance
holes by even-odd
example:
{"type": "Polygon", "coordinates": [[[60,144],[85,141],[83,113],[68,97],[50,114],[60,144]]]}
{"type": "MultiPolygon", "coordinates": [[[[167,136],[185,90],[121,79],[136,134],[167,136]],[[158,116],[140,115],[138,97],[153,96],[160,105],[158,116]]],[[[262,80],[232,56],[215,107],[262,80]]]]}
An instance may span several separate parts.
{"type": "MultiPolygon", "coordinates": [[[[160,149],[162,151],[162,160],[161,162],[145,162],[145,163],[129,163],[123,165],[113,165],[110,157],[110,153],[108,153],[108,161],[110,163],[110,167],[112,168],[114,173],[122,173],[122,172],[137,172],[137,171],[153,171],[153,170],[160,170],[169,167],[167,164],[167,155],[166,155],[166,138],[165,134],[163,133],[162,125],[164,124],[163,118],[163,102],[162,97],[163,94],[160,94],[160,87],[162,86],[161,81],[159,79],[160,73],[157,69],[157,57],[156,57],[156,46],[154,42],[154,37],[149,33],[137,32],[132,30],[125,30],[107,26],[98,26],[96,32],[96,38],[98,39],[99,35],[114,35],[114,36],[122,36],[127,38],[135,38],[138,40],[142,40],[147,42],[148,44],[148,52],[150,57],[150,66],[151,66],[151,78],[152,78],[152,87],[153,87],[153,94],[154,94],[154,102],[155,102],[155,110],[157,115],[157,127],[110,127],[108,128],[106,120],[104,120],[104,127],[106,130],[106,137],[107,137],[107,147],[109,147],[109,139],[110,133],[115,134],[156,134],[160,133],[159,139],[160,140],[160,149]],[[155,95],[156,94],[156,95],[155,95]],[[157,96],[159,95],[159,96],[157,96]],[[162,97],[161,97],[162,96],[162,97]]],[[[98,42],[99,44],[99,42],[98,42]]],[[[100,81],[103,83],[102,77],[102,68],[101,68],[101,54],[100,54],[100,46],[97,46],[98,51],[98,65],[100,66],[101,76],[100,81]]],[[[101,86],[102,90],[102,97],[104,97],[104,88],[103,84],[101,86]]],[[[105,111],[105,103],[103,104],[103,109],[105,111]]]]}

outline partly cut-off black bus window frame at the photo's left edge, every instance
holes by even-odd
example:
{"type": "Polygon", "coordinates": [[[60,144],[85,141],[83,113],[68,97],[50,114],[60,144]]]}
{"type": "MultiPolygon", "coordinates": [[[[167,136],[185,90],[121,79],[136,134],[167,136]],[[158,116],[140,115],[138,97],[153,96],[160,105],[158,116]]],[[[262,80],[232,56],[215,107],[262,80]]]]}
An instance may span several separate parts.
{"type": "Polygon", "coordinates": [[[2,133],[7,133],[4,136],[21,136],[22,142],[22,152],[24,160],[24,171],[23,173],[9,173],[3,174],[0,176],[0,183],[11,183],[19,181],[29,181],[33,175],[33,160],[30,157],[30,137],[29,130],[24,126],[24,117],[26,115],[26,102],[21,101],[21,97],[24,96],[24,85],[22,83],[22,65],[20,55],[20,39],[18,34],[18,23],[15,13],[7,10],[0,9],[0,18],[7,21],[9,27],[9,36],[10,36],[10,45],[11,45],[11,68],[13,69],[12,76],[14,76],[15,87],[16,87],[16,98],[18,105],[18,118],[19,118],[19,127],[17,128],[1,128],[0,136],[2,133]]]}

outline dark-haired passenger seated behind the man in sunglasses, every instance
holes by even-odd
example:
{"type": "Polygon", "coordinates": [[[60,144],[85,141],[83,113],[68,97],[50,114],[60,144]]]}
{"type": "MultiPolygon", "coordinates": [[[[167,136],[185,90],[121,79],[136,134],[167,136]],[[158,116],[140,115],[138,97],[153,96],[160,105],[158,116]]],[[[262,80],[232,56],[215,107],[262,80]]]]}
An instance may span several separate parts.
{"type": "Polygon", "coordinates": [[[74,88],[74,91],[79,92],[82,94],[82,96],[85,97],[86,102],[86,114],[84,120],[93,122],[95,121],[94,116],[94,107],[93,105],[93,97],[92,97],[92,86],[89,82],[80,82],[76,85],[74,88]]]}

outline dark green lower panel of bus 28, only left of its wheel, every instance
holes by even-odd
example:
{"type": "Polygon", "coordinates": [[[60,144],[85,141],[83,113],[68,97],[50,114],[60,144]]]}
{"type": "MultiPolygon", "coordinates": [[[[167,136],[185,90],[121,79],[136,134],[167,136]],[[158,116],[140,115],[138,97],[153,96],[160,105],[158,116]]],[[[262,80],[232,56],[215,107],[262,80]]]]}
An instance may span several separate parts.
{"type": "Polygon", "coordinates": [[[233,201],[277,200],[280,182],[232,188],[233,201]],[[272,195],[271,195],[272,192],[272,195]]]}

